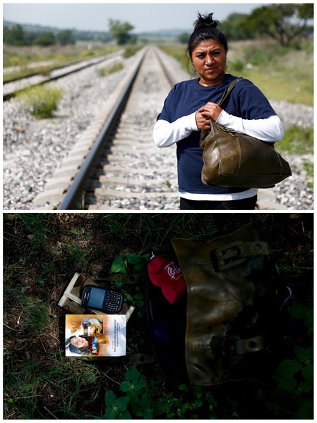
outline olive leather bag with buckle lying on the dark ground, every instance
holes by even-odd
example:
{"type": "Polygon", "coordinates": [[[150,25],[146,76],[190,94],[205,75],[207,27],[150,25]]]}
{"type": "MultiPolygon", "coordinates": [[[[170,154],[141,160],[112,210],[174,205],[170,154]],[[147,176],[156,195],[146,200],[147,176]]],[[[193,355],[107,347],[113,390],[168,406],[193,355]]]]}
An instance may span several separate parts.
{"type": "Polygon", "coordinates": [[[209,240],[174,239],[172,247],[187,293],[164,307],[157,305],[157,287],[149,298],[158,310],[150,322],[165,317],[165,342],[154,350],[167,373],[183,363],[179,374],[201,386],[256,378],[276,346],[279,313],[268,243],[251,223],[209,240]]]}

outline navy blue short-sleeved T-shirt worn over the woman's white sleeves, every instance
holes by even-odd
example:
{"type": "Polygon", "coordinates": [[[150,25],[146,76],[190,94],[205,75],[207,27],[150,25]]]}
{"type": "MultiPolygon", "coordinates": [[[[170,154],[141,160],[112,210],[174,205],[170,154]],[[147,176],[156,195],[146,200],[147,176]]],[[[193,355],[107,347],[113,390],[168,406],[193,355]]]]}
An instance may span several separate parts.
{"type": "MultiPolygon", "coordinates": [[[[199,84],[199,78],[179,82],[165,99],[158,119],[172,123],[178,118],[194,113],[208,102],[220,102],[225,88],[236,78],[225,75],[222,83],[214,87],[204,87],[199,84]]],[[[222,105],[222,109],[243,119],[265,119],[275,115],[268,99],[246,79],[239,80],[229,99],[222,105]]],[[[179,190],[196,194],[229,194],[244,191],[243,188],[222,188],[202,183],[203,149],[199,145],[200,137],[200,131],[193,131],[189,137],[177,142],[179,190]]]]}

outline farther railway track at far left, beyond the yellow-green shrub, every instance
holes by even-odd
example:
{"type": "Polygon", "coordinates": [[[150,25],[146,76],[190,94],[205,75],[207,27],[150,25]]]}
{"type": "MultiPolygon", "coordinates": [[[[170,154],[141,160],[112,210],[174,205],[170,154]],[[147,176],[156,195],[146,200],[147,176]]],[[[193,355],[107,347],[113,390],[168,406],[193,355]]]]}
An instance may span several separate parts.
{"type": "Polygon", "coordinates": [[[33,73],[32,75],[28,75],[25,78],[13,78],[12,80],[8,80],[4,82],[3,87],[3,101],[6,102],[7,100],[11,99],[12,97],[16,96],[19,92],[23,90],[35,87],[37,85],[42,85],[47,82],[51,82],[54,80],[58,80],[59,78],[63,78],[64,76],[71,75],[71,73],[82,71],[85,68],[90,66],[97,65],[98,63],[102,62],[109,62],[118,59],[124,50],[115,51],[111,54],[103,54],[101,56],[90,57],[88,59],[83,59],[77,61],[76,63],[70,63],[63,66],[58,66],[54,68],[52,71],[49,72],[49,75],[41,75],[40,73],[33,73]]]}

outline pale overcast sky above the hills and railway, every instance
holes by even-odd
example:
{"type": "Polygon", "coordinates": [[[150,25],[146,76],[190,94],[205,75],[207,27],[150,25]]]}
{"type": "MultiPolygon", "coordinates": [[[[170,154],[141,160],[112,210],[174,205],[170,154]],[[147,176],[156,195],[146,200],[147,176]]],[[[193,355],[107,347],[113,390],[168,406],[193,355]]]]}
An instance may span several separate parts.
{"type": "Polygon", "coordinates": [[[250,13],[262,4],[251,3],[4,3],[3,18],[15,23],[32,23],[61,29],[109,30],[109,19],[128,22],[133,32],[165,29],[191,30],[197,12],[214,13],[225,20],[230,13],[250,13]]]}

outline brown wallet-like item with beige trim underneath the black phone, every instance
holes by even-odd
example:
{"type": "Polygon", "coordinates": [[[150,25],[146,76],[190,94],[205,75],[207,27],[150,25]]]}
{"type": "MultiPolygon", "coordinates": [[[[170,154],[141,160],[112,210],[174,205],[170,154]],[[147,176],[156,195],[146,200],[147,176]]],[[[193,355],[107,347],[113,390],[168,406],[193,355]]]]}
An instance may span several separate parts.
{"type": "MultiPolygon", "coordinates": [[[[108,277],[108,281],[114,280],[114,276],[108,277]]],[[[90,278],[86,278],[85,276],[78,273],[74,274],[73,278],[71,278],[71,281],[68,283],[68,286],[64,291],[61,299],[59,300],[59,307],[63,307],[67,310],[67,312],[73,314],[104,314],[98,310],[86,309],[85,307],[82,307],[81,293],[83,292],[83,288],[86,285],[100,286],[90,278]]],[[[124,305],[122,306],[119,314],[125,314],[126,321],[128,321],[134,309],[135,307],[133,307],[133,305],[128,305],[126,302],[124,302],[124,305]]]]}

